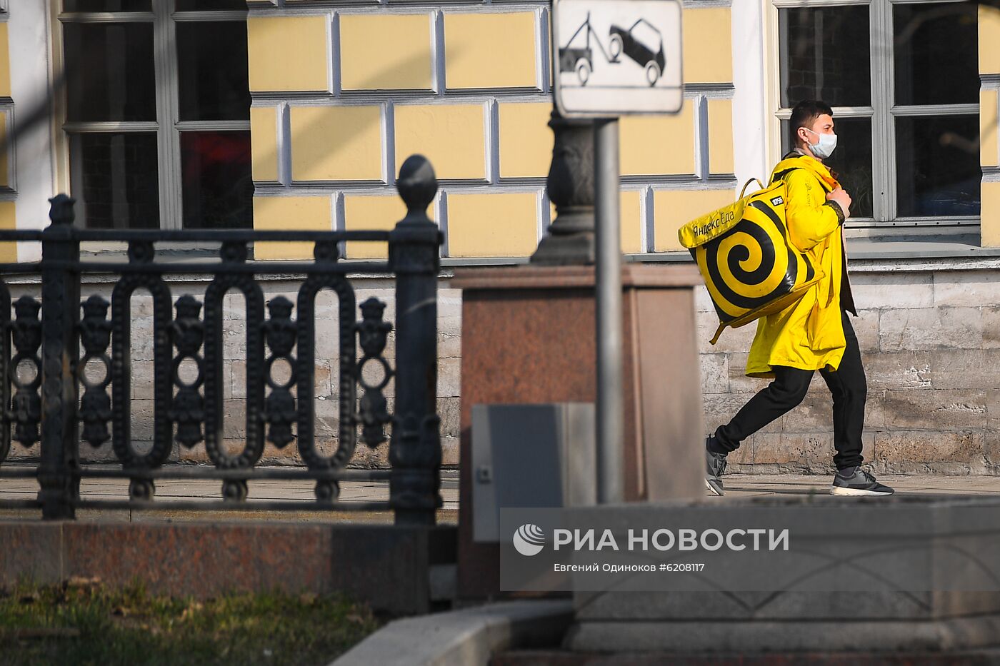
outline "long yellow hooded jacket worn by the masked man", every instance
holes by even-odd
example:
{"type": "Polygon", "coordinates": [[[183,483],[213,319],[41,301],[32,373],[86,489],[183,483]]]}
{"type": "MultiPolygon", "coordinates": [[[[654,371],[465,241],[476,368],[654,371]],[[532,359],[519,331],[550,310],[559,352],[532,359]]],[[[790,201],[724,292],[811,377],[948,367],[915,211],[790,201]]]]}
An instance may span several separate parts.
{"type": "Polygon", "coordinates": [[[836,370],[846,341],[841,309],[854,312],[841,219],[826,194],[839,187],[822,162],[792,153],[771,172],[771,182],[784,179],[785,218],[789,238],[808,254],[823,278],[799,301],[757,321],[746,374],[773,378],[772,366],[801,370],[836,370]]]}

